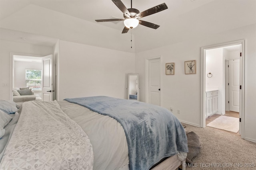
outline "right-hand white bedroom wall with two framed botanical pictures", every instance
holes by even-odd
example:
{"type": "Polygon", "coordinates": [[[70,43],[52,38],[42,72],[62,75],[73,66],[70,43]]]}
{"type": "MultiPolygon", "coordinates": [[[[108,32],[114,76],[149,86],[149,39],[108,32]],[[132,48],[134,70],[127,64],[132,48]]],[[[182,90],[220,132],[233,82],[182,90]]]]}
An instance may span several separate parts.
{"type": "Polygon", "coordinates": [[[146,58],[162,56],[162,106],[170,109],[180,121],[201,126],[201,47],[240,39],[245,47],[245,127],[244,137],[256,141],[256,25],[191,39],[136,54],[136,72],[140,74],[140,100],[145,101],[146,58]],[[196,74],[184,74],[184,61],[196,60],[196,74]],[[175,63],[175,75],[165,75],[165,63],[175,63]],[[180,109],[180,114],[177,114],[180,109]]]}

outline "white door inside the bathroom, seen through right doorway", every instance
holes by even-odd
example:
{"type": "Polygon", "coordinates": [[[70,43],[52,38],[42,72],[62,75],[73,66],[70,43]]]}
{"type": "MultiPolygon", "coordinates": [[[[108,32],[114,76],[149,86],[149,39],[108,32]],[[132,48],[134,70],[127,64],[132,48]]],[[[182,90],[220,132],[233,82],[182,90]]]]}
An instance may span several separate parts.
{"type": "Polygon", "coordinates": [[[240,60],[229,61],[229,110],[239,112],[240,60]]]}

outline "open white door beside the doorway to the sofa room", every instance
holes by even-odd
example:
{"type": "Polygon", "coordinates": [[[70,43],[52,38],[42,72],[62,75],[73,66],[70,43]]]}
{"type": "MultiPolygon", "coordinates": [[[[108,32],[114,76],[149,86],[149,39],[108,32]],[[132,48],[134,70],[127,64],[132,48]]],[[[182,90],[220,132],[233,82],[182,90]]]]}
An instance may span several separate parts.
{"type": "Polygon", "coordinates": [[[42,57],[42,101],[53,100],[52,55],[42,57]]]}

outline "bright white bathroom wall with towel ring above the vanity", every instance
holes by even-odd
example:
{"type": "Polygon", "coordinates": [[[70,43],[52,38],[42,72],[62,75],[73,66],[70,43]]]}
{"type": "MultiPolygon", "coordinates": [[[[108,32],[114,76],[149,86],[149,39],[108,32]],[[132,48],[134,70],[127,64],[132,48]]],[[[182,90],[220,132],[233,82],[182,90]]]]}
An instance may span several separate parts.
{"type": "Polygon", "coordinates": [[[217,89],[218,91],[218,112],[225,114],[225,67],[224,67],[223,48],[206,50],[205,61],[205,88],[217,89]],[[207,76],[208,73],[212,77],[207,76]]]}

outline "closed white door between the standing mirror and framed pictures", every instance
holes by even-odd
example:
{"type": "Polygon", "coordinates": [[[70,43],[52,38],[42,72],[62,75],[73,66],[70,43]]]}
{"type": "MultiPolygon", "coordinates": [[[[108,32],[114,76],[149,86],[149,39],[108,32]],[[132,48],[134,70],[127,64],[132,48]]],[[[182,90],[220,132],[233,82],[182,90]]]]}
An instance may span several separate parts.
{"type": "Polygon", "coordinates": [[[148,61],[147,103],[154,104],[157,106],[161,105],[160,82],[160,58],[151,59],[148,61]]]}

